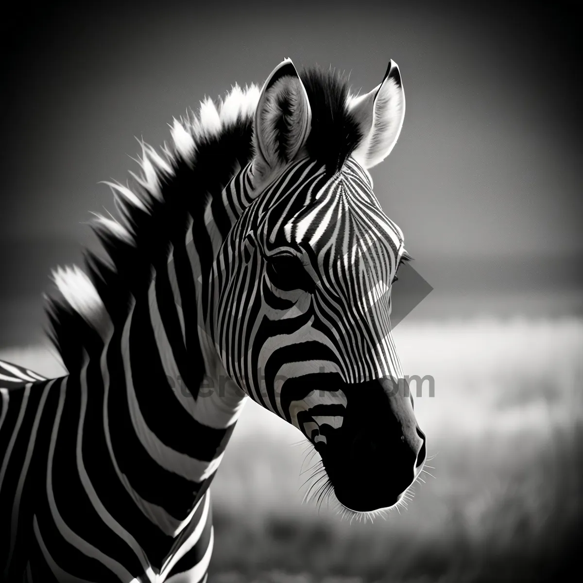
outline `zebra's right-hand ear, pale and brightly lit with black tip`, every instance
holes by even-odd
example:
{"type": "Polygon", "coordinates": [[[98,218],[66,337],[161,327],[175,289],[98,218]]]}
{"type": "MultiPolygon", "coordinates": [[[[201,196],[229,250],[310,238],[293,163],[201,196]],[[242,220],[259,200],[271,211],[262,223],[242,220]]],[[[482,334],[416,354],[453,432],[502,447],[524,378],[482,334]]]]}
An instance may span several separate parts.
{"type": "Polygon", "coordinates": [[[349,109],[364,136],[352,156],[365,168],[376,166],[393,149],[405,117],[405,92],[395,61],[389,62],[382,83],[353,99],[349,109]]]}

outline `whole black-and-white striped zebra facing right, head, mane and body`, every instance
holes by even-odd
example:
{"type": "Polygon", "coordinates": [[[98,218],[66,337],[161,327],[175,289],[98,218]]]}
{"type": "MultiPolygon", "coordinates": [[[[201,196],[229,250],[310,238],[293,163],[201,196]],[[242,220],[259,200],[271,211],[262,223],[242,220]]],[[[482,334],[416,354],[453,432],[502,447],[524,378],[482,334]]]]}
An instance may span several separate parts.
{"type": "Polygon", "coordinates": [[[53,272],[68,374],[0,366],[4,581],[206,581],[209,485],[248,397],[319,453],[345,514],[400,504],[425,436],[391,336],[407,261],[369,168],[403,124],[399,68],[353,95],[282,61],[140,141],[102,250],[53,272]]]}

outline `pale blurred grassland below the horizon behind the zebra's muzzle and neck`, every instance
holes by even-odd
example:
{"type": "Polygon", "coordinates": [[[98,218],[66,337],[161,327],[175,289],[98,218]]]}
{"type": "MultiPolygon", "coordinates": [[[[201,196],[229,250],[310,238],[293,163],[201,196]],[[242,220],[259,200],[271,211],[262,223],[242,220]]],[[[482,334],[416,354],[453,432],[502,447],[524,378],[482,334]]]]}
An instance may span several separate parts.
{"type": "MultiPolygon", "coordinates": [[[[403,322],[394,335],[405,373],[434,377],[415,410],[435,477],[406,510],[350,524],[301,504],[301,435],[249,402],[213,483],[211,583],[567,576],[582,534],[583,321],[403,322]]],[[[46,349],[0,358],[59,372],[46,349]]]]}

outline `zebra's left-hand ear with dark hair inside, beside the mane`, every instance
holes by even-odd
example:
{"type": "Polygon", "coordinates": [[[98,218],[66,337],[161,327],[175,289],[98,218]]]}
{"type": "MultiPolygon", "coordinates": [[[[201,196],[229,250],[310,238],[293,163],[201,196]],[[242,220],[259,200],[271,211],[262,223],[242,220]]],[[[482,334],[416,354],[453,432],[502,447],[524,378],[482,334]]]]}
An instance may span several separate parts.
{"type": "Polygon", "coordinates": [[[255,111],[253,140],[262,173],[294,159],[310,133],[311,117],[300,76],[285,59],[266,80],[255,111]]]}

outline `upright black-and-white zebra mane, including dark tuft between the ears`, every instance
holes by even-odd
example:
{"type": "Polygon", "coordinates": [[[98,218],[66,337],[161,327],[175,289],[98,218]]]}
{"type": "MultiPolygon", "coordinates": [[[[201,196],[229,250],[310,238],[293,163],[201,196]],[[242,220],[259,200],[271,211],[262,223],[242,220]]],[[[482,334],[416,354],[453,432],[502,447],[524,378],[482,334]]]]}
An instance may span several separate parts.
{"type": "MultiPolygon", "coordinates": [[[[358,145],[361,135],[347,109],[347,80],[318,68],[300,73],[312,110],[306,147],[333,174],[358,145]]],[[[90,223],[105,258],[85,251],[85,271],[57,268],[58,294],[45,297],[48,335],[65,367],[83,366],[84,353],[100,351],[112,327],[127,319],[132,296],[147,290],[152,266],[184,244],[192,222],[203,220],[209,196],[220,195],[240,167],[254,157],[252,121],[259,100],[256,85],[235,85],[224,99],[201,101],[198,115],[174,119],[172,145],[161,154],[139,141],[141,173],[132,185],[104,182],[114,195],[118,217],[95,215],[90,223]]],[[[202,229],[201,229],[202,230],[202,229]]],[[[192,229],[196,237],[199,229],[192,229]]],[[[209,250],[210,252],[210,250],[209,250]]]]}

